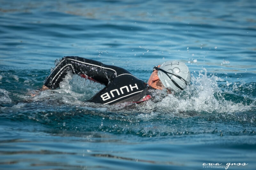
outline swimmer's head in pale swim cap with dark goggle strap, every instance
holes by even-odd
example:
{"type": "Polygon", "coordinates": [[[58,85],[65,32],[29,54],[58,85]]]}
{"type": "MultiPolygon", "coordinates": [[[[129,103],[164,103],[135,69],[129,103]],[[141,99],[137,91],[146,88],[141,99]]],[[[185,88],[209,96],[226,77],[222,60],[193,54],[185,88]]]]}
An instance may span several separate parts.
{"type": "Polygon", "coordinates": [[[178,92],[184,90],[190,82],[188,66],[179,61],[167,61],[155,66],[148,84],[156,89],[171,88],[178,92]]]}

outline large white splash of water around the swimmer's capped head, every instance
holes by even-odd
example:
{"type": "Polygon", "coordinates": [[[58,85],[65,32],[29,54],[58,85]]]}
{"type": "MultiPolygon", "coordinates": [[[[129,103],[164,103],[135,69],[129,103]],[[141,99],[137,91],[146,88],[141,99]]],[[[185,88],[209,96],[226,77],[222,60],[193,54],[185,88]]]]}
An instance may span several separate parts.
{"type": "Polygon", "coordinates": [[[152,110],[161,110],[165,113],[208,112],[208,113],[235,113],[249,111],[255,107],[254,103],[245,105],[225,100],[223,91],[217,81],[223,81],[217,76],[207,76],[199,72],[197,77],[191,78],[191,85],[184,92],[169,94],[161,102],[148,102],[145,107],[152,110]]]}

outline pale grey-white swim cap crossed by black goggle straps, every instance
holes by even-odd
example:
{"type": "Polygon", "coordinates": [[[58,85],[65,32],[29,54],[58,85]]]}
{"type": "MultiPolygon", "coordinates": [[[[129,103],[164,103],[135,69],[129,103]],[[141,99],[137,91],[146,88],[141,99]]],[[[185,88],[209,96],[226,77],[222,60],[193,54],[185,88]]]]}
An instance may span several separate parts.
{"type": "Polygon", "coordinates": [[[155,69],[164,87],[171,87],[176,92],[185,89],[190,82],[188,66],[183,62],[167,61],[155,69]]]}

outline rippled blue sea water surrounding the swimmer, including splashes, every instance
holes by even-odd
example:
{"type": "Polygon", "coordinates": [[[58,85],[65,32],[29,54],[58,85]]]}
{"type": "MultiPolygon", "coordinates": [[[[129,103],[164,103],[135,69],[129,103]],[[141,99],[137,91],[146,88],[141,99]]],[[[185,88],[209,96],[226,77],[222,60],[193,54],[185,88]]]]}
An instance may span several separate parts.
{"type": "Polygon", "coordinates": [[[0,4],[0,169],[255,169],[256,1],[0,4]],[[145,82],[180,60],[191,83],[129,106],[85,102],[103,86],[78,76],[38,91],[67,55],[145,82]]]}

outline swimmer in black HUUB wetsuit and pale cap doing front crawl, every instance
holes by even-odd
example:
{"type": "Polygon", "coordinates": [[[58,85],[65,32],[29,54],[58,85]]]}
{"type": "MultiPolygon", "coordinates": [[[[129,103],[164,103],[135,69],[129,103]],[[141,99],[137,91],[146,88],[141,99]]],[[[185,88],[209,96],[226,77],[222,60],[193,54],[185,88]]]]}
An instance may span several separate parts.
{"type": "Polygon", "coordinates": [[[87,101],[108,105],[140,103],[152,97],[152,90],[172,89],[178,92],[185,89],[190,82],[188,66],[179,61],[167,61],[155,66],[145,83],[121,67],[77,56],[66,56],[46,78],[42,90],[58,88],[68,72],[105,85],[105,88],[87,101]]]}

